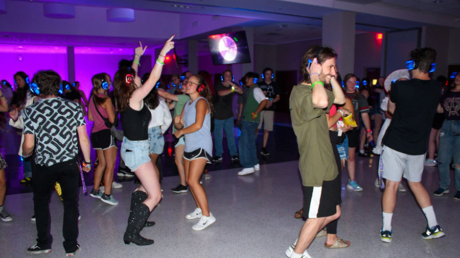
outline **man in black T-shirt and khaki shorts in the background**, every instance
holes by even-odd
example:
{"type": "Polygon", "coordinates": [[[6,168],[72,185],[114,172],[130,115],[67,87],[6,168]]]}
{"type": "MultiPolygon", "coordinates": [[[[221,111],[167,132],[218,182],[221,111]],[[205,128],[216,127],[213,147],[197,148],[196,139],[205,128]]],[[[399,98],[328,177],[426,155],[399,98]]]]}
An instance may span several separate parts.
{"type": "Polygon", "coordinates": [[[267,147],[268,135],[273,131],[274,103],[280,100],[281,89],[280,84],[273,81],[273,70],[271,68],[265,67],[262,71],[262,79],[263,81],[259,82],[258,85],[268,101],[267,106],[260,112],[260,123],[256,130],[256,139],[262,124],[264,124],[264,140],[260,153],[263,156],[269,156],[270,153],[265,147],[267,147]]]}

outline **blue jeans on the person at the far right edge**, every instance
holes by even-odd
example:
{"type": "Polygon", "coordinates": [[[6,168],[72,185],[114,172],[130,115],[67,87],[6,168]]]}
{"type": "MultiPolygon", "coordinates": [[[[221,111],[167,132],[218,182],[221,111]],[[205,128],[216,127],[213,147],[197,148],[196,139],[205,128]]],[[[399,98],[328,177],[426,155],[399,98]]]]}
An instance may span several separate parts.
{"type": "MultiPolygon", "coordinates": [[[[439,135],[438,169],[439,187],[448,189],[450,185],[449,166],[460,165],[460,121],[445,120],[439,135]]],[[[460,191],[460,169],[455,168],[455,189],[460,191]]]]}

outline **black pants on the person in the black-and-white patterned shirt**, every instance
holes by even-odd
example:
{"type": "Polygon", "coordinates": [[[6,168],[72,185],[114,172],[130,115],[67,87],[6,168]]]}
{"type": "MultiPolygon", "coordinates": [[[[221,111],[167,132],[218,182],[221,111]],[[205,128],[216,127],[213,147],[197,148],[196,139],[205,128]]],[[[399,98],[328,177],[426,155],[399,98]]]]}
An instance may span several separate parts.
{"type": "Polygon", "coordinates": [[[37,245],[40,248],[50,249],[53,243],[49,203],[54,184],[59,181],[64,203],[64,222],[62,225],[64,249],[66,252],[73,252],[77,249],[79,178],[78,159],[61,162],[51,167],[35,165],[34,212],[38,232],[37,245]]]}

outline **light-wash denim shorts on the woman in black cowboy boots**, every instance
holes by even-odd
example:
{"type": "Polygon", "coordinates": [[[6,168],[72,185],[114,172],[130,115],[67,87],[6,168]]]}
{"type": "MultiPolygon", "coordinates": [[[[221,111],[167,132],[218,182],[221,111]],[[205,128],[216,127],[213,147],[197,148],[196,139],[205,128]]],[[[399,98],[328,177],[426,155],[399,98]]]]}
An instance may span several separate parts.
{"type": "Polygon", "coordinates": [[[131,141],[123,137],[120,155],[125,166],[131,171],[136,170],[142,164],[150,162],[149,140],[131,141]]]}

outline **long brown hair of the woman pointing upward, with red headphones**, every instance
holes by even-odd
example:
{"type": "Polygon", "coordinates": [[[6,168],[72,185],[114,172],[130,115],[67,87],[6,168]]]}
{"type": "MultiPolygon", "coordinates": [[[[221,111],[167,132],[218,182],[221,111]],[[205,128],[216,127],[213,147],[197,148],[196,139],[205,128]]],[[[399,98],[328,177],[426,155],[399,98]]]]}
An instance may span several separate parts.
{"type": "Polygon", "coordinates": [[[113,76],[113,90],[115,92],[117,109],[122,112],[128,107],[128,100],[131,97],[132,92],[136,89],[134,85],[134,78],[136,72],[132,68],[120,68],[113,76]],[[133,80],[131,83],[126,83],[126,75],[131,74],[133,80]]]}

